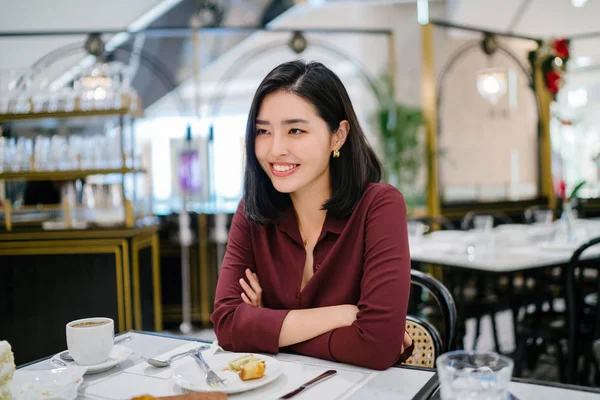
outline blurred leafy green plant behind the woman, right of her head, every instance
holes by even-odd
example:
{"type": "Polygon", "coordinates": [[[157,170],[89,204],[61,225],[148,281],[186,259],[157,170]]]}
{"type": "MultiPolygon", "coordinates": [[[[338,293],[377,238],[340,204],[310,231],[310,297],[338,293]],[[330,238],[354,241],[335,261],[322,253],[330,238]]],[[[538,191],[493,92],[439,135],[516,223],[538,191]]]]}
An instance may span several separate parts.
{"type": "Polygon", "coordinates": [[[371,90],[377,99],[372,123],[381,137],[384,180],[404,192],[409,207],[417,206],[424,203],[423,194],[415,191],[424,158],[419,142],[423,112],[396,101],[391,87],[389,75],[371,82],[371,90]]]}

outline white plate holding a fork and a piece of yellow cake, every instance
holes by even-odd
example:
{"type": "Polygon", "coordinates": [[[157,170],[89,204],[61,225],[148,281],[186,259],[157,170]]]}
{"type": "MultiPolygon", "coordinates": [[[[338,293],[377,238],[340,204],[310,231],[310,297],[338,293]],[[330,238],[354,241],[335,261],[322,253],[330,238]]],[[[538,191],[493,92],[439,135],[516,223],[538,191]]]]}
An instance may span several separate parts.
{"type": "Polygon", "coordinates": [[[215,354],[213,356],[205,356],[206,362],[210,368],[215,371],[220,378],[226,379],[223,386],[218,389],[213,389],[206,384],[206,373],[196,364],[196,361],[191,357],[186,357],[181,360],[179,365],[173,369],[173,381],[184,389],[193,392],[210,392],[219,391],[227,394],[241,393],[248,390],[256,389],[267,385],[277,379],[283,372],[281,363],[272,357],[257,355],[262,360],[265,360],[266,368],[265,375],[260,379],[242,381],[240,377],[232,371],[223,371],[227,364],[244,354],[241,353],[226,353],[215,354]]]}

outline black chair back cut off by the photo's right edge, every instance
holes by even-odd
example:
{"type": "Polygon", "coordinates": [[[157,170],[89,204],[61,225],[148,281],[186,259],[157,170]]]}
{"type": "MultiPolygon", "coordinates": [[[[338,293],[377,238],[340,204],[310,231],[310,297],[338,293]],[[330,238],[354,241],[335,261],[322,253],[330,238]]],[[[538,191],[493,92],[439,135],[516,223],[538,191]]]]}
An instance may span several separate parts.
{"type": "MultiPolygon", "coordinates": [[[[592,349],[581,348],[580,329],[584,324],[594,324],[589,327],[591,331],[600,330],[600,314],[597,304],[587,304],[591,293],[598,293],[600,289],[600,255],[582,259],[582,254],[590,247],[600,244],[600,237],[582,244],[571,256],[565,270],[566,274],[566,300],[568,318],[568,354],[567,354],[567,381],[574,382],[577,376],[579,356],[583,352],[589,353],[592,349]],[[594,272],[590,276],[588,272],[594,272]],[[594,279],[590,282],[590,278],[594,279]],[[592,315],[594,313],[595,315],[592,315]]],[[[600,247],[600,246],[597,246],[600,247]]]]}

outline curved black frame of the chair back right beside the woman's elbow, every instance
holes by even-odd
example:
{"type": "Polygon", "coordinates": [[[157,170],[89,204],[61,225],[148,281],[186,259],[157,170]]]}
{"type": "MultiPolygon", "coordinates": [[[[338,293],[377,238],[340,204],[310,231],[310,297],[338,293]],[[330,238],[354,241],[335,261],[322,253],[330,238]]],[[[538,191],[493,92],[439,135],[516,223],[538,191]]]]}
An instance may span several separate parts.
{"type": "MultiPolygon", "coordinates": [[[[444,334],[442,336],[439,349],[436,351],[435,355],[438,356],[442,353],[447,352],[449,349],[452,349],[454,347],[454,340],[456,338],[457,316],[456,305],[454,303],[454,298],[452,297],[452,294],[440,281],[438,281],[431,275],[427,275],[421,271],[410,271],[410,283],[411,285],[417,285],[429,291],[431,296],[438,304],[442,318],[444,320],[444,334]]],[[[413,318],[413,320],[415,319],[413,318]]],[[[409,321],[408,318],[407,321],[409,321]]],[[[421,324],[422,322],[423,321],[421,321],[421,324]]],[[[433,326],[431,326],[430,328],[431,330],[435,331],[435,328],[433,328],[433,326]]],[[[429,328],[427,329],[429,330],[429,328]]],[[[437,333],[437,331],[435,332],[437,334],[437,337],[439,338],[440,335],[437,333]]]]}

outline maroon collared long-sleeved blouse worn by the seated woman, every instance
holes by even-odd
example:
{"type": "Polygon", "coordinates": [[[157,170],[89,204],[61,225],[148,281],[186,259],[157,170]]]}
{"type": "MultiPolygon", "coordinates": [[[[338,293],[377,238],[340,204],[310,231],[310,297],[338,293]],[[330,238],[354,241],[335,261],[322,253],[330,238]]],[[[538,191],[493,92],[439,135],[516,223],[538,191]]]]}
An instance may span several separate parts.
{"type": "MultiPolygon", "coordinates": [[[[406,204],[393,186],[372,183],[346,219],[327,217],[314,249],[314,275],[300,291],[306,252],[293,207],[277,223],[233,217],[217,291],[214,323],[230,351],[279,351],[290,310],[356,304],[351,326],[289,350],[326,360],[386,369],[401,356],[410,290],[406,204]],[[263,289],[263,307],[242,301],[240,278],[250,268],[263,289]]],[[[285,350],[285,349],[282,349],[285,350]]]]}

